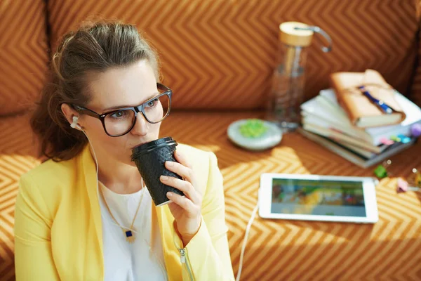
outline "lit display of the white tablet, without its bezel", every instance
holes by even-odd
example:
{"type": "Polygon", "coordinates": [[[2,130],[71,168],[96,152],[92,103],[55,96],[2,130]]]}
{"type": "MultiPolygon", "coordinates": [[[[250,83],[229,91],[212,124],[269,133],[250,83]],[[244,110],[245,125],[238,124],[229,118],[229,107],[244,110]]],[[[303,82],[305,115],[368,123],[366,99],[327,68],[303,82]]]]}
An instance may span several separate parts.
{"type": "Polygon", "coordinates": [[[273,178],[272,213],[366,216],[363,183],[273,178]]]}

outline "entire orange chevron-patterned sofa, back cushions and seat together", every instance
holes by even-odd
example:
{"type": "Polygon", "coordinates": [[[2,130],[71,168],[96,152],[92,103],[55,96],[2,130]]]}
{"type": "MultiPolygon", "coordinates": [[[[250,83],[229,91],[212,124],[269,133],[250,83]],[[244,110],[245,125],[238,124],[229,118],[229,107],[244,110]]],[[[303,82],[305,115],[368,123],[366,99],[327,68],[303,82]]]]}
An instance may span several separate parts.
{"type": "MultiPolygon", "coordinates": [[[[373,176],[296,133],[264,152],[227,139],[237,119],[262,117],[275,66],[280,22],[319,25],[333,39],[322,53],[314,39],[306,98],[328,87],[335,71],[378,70],[421,104],[416,0],[14,0],[0,3],[0,280],[14,280],[13,214],[20,175],[40,163],[30,109],[45,81],[51,50],[67,30],[93,15],[138,25],[159,52],[163,83],[174,91],[161,126],[215,152],[225,180],[234,273],[260,174],[373,176]]],[[[421,145],[392,158],[394,177],[377,186],[375,225],[256,218],[241,280],[420,280],[421,196],[396,194],[396,176],[421,167],[421,145]]]]}

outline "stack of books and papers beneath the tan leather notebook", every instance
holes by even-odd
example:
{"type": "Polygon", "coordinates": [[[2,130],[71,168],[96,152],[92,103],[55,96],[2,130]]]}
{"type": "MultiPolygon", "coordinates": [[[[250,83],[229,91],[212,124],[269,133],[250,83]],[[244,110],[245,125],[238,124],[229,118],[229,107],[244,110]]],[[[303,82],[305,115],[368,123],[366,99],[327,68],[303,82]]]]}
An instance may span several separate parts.
{"type": "MultiPolygon", "coordinates": [[[[371,124],[362,128],[356,124],[361,118],[352,119],[348,109],[338,102],[335,90],[338,91],[336,87],[322,90],[319,96],[301,105],[302,128],[298,131],[303,136],[363,168],[382,162],[415,143],[410,128],[413,124],[421,124],[421,110],[401,93],[392,91],[402,119],[396,124],[371,124]]],[[[359,107],[363,105],[359,103],[359,107]]],[[[377,121],[384,122],[384,119],[377,118],[377,121]]],[[[367,122],[373,122],[373,119],[367,119],[367,122]]]]}

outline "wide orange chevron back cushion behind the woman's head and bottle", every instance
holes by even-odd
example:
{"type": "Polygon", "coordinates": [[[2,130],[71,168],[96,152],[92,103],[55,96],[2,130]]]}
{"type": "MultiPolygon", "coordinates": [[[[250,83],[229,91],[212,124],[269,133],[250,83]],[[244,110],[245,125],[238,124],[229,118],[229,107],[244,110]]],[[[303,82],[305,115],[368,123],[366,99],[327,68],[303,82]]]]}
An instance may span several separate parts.
{"type": "MultiPolygon", "coordinates": [[[[415,0],[50,0],[51,42],[93,15],[136,24],[159,51],[174,108],[265,106],[279,24],[318,25],[333,39],[309,47],[305,98],[335,71],[378,70],[407,93],[418,26],[415,0]]],[[[53,49],[55,49],[53,47],[53,49]]]]}

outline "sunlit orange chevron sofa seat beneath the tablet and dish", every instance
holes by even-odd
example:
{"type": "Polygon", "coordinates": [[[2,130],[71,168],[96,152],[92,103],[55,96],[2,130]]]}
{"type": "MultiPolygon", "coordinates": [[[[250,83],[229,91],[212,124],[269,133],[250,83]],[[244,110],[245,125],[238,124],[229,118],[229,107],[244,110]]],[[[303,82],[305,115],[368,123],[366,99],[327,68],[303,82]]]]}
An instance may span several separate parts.
{"type": "MultiPolygon", "coordinates": [[[[227,126],[258,112],[173,112],[162,136],[213,151],[224,176],[228,239],[234,273],[243,237],[258,200],[260,174],[373,176],[298,134],[265,152],[247,152],[227,139],[227,126]]],[[[27,117],[0,119],[0,280],[13,280],[13,214],[18,179],[39,164],[27,117]],[[13,126],[10,126],[13,124],[13,126]]],[[[421,166],[421,144],[392,157],[394,176],[421,166]]],[[[377,186],[375,225],[256,218],[241,280],[420,280],[421,195],[396,194],[396,178],[377,186]]]]}

